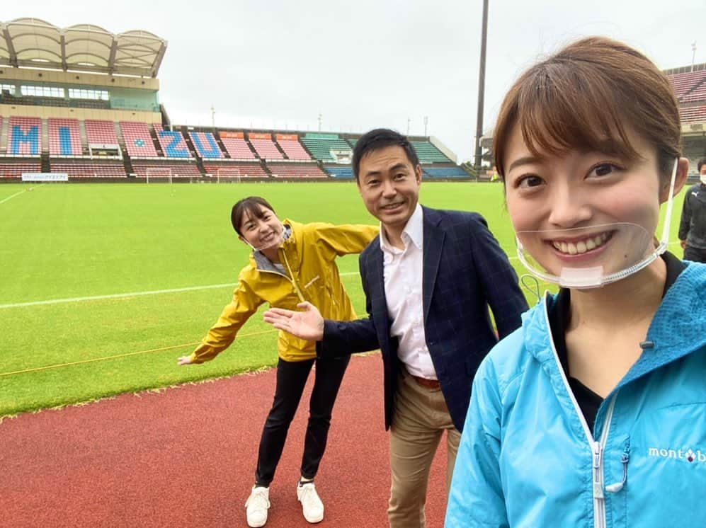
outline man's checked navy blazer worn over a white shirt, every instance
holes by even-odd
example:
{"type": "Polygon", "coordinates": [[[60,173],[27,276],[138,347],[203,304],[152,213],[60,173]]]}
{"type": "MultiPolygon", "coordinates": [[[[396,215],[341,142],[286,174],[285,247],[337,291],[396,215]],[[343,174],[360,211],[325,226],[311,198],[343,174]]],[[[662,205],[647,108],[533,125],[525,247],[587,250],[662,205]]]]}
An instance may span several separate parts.
{"type": "MultiPolygon", "coordinates": [[[[458,430],[471,398],[480,362],[497,343],[488,312],[501,338],[520,326],[528,309],[510,262],[484,218],[472,212],[423,210],[422,299],[426,345],[451,418],[458,430]]],[[[380,348],[385,376],[385,428],[394,420],[399,375],[397,338],[389,335],[380,239],[360,253],[360,278],[368,318],[325,321],[319,357],[380,348]]]]}

